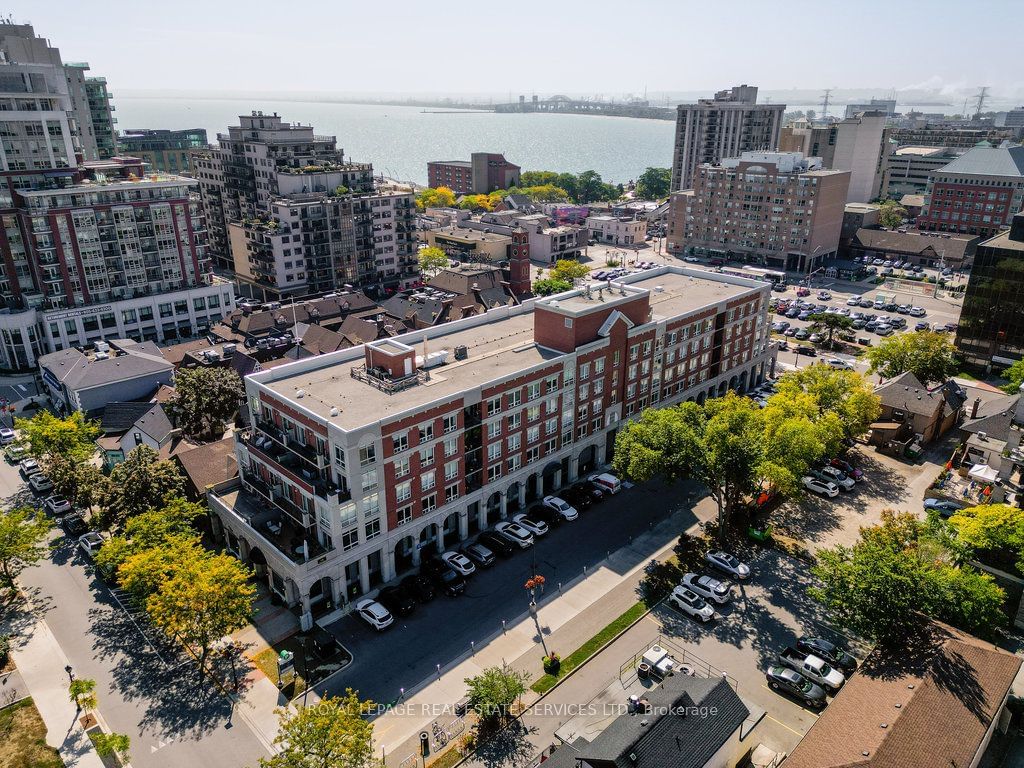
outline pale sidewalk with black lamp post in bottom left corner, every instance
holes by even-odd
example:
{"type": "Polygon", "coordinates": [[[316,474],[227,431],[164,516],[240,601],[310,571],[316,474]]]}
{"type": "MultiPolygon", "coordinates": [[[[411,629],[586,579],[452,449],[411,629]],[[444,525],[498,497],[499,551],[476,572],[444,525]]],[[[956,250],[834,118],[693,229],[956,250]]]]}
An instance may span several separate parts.
{"type": "Polygon", "coordinates": [[[26,605],[12,610],[5,617],[3,631],[11,635],[11,656],[46,724],[46,743],[60,752],[68,768],[104,768],[79,722],[82,713],[68,695],[68,656],[46,622],[30,609],[26,605]]]}

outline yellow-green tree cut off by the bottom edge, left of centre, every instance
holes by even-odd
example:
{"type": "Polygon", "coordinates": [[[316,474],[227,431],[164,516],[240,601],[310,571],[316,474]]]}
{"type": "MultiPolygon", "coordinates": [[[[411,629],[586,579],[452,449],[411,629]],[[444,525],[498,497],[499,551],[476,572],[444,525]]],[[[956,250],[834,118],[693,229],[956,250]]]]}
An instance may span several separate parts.
{"type": "Polygon", "coordinates": [[[348,688],[298,712],[279,710],[278,754],[260,758],[260,768],[373,768],[374,725],[366,715],[373,701],[360,701],[348,688]]]}

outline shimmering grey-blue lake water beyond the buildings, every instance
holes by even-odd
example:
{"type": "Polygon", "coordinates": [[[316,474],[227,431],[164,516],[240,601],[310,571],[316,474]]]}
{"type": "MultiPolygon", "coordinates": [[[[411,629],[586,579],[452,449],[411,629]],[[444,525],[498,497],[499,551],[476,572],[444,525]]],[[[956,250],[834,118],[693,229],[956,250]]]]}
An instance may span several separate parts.
{"type": "Polygon", "coordinates": [[[469,160],[500,152],[523,170],[579,173],[605,181],[635,179],[648,166],[672,164],[675,123],[589,115],[424,113],[418,106],[324,101],[116,96],[119,130],[206,128],[211,142],[253,109],[333,134],[346,157],[371,162],[391,178],[427,182],[427,162],[469,160]]]}

